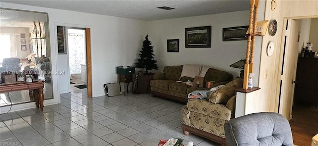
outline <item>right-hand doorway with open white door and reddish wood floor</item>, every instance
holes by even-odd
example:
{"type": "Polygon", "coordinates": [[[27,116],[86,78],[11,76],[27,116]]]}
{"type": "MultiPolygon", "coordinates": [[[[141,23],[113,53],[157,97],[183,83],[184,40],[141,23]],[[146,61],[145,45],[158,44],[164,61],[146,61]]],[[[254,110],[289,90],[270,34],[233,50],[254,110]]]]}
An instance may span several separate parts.
{"type": "MultiPolygon", "coordinates": [[[[313,104],[300,104],[296,100],[299,91],[295,88],[299,83],[296,74],[299,75],[297,64],[302,48],[306,47],[307,42],[318,40],[318,38],[310,37],[311,34],[318,33],[317,25],[311,23],[312,19],[317,18],[289,19],[286,21],[286,30],[283,32],[285,40],[282,42],[284,47],[282,48],[278,112],[290,120],[294,144],[298,146],[310,146],[311,139],[318,132],[318,109],[313,104]]],[[[318,50],[313,49],[313,51],[318,50]]]]}

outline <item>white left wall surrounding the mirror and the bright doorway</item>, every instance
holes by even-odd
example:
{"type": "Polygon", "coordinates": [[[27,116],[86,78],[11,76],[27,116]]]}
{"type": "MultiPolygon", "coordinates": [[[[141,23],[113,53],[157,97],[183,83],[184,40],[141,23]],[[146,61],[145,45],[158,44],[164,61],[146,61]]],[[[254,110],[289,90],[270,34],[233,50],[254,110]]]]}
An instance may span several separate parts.
{"type": "MultiPolygon", "coordinates": [[[[68,70],[66,55],[58,55],[56,26],[90,28],[92,57],[92,93],[93,97],[104,95],[103,84],[117,82],[116,66],[134,65],[132,60],[138,57],[142,41],[146,36],[147,21],[81,13],[44,7],[1,2],[1,7],[47,12],[49,14],[49,30],[51,60],[53,71],[68,70]]],[[[70,84],[65,75],[53,75],[54,100],[60,100],[60,86],[70,84]],[[61,80],[58,80],[61,79],[61,80]]],[[[51,100],[50,100],[51,101],[51,100]]],[[[45,104],[50,101],[45,100],[45,104]]],[[[47,105],[47,104],[46,104],[47,105]]],[[[16,108],[21,108],[18,105],[16,108]]],[[[33,104],[27,105],[33,107],[33,104]]],[[[14,108],[14,107],[13,107],[14,108]]],[[[13,109],[14,110],[14,109],[13,109]]]]}

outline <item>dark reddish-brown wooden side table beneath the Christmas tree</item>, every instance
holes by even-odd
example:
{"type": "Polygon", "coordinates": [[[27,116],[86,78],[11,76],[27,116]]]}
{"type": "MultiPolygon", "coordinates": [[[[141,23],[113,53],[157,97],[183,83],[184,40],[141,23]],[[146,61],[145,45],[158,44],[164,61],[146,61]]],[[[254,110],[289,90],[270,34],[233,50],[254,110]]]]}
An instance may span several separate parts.
{"type": "MultiPolygon", "coordinates": [[[[135,80],[134,75],[134,80],[135,80]]],[[[151,87],[150,87],[150,81],[153,79],[154,74],[144,74],[142,76],[137,77],[137,93],[138,94],[144,94],[144,93],[150,93],[151,92],[151,87]]]]}

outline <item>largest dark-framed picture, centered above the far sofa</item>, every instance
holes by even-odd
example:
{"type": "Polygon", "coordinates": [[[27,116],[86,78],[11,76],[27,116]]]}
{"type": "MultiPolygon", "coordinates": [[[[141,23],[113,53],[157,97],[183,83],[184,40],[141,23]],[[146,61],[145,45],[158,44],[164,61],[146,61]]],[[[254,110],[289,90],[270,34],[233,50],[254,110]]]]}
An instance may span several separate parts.
{"type": "Polygon", "coordinates": [[[185,48],[210,48],[211,26],[185,28],[185,48]]]}

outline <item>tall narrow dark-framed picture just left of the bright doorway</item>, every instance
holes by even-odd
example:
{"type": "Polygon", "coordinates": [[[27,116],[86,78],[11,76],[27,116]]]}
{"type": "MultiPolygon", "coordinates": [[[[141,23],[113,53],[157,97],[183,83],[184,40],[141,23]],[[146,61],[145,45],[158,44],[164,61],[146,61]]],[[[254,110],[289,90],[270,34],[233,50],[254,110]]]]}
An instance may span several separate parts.
{"type": "Polygon", "coordinates": [[[58,52],[59,54],[66,54],[67,43],[66,43],[66,29],[64,26],[57,26],[58,35],[58,52]]]}

